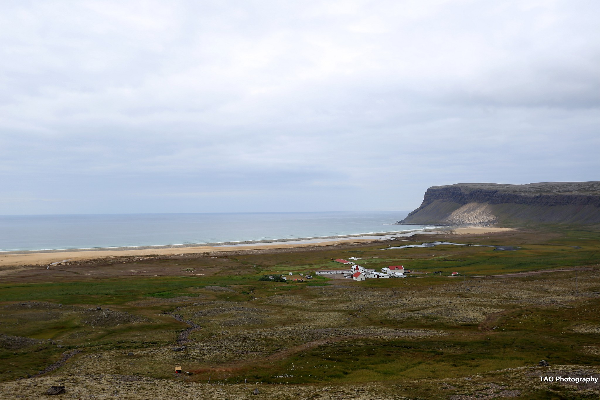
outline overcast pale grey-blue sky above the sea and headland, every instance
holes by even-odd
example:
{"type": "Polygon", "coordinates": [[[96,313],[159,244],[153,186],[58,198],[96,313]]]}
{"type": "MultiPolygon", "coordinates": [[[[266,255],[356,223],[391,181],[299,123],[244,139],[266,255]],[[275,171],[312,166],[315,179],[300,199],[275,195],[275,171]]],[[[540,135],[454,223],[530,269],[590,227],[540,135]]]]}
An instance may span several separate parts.
{"type": "Polygon", "coordinates": [[[596,0],[3,1],[0,214],[600,180],[596,0]]]}

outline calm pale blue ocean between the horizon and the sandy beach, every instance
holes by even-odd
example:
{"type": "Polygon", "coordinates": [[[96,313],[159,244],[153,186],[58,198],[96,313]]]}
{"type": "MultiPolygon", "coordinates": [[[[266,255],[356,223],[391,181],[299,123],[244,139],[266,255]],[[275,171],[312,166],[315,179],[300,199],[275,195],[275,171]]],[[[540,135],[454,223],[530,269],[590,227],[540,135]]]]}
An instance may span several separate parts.
{"type": "Polygon", "coordinates": [[[0,251],[293,239],[422,228],[406,211],[0,216],[0,251]]]}

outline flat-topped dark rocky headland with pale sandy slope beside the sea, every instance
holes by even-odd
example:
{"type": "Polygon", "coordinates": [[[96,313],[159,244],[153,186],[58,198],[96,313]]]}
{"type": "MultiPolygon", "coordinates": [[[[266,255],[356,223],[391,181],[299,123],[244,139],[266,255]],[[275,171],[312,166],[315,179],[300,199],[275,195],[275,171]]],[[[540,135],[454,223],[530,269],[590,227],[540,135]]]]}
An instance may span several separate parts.
{"type": "Polygon", "coordinates": [[[600,181],[434,186],[402,223],[522,225],[600,223],[600,181]]]}

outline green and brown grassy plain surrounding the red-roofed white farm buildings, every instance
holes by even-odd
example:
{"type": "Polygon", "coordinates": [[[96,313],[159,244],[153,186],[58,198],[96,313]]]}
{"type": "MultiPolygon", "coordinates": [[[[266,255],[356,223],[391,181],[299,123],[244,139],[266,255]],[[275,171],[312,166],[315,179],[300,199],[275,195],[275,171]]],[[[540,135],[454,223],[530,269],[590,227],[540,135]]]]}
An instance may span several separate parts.
{"type": "Polygon", "coordinates": [[[393,245],[446,240],[518,250],[385,249],[391,243],[379,242],[124,257],[61,266],[47,279],[40,278],[49,273],[43,267],[8,273],[0,284],[0,380],[35,375],[77,350],[46,375],[191,383],[211,377],[217,384],[317,388],[379,383],[384,392],[432,399],[485,398],[476,385],[503,384],[526,398],[593,398],[583,389],[535,386],[526,369],[542,359],[563,369],[596,371],[600,365],[598,231],[401,239],[393,245]],[[339,267],[331,261],[338,257],[360,257],[359,264],[377,270],[403,264],[421,273],[365,282],[314,275],[339,267]],[[557,269],[566,271],[492,276],[557,269]],[[152,273],[139,274],[146,270],[152,273]],[[449,276],[454,271],[466,277],[449,276]],[[258,280],[289,272],[315,278],[258,280]],[[181,345],[187,348],[172,350],[181,345]],[[176,365],[190,374],[174,375],[176,365]]]}

